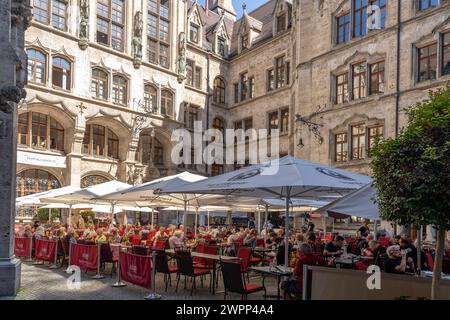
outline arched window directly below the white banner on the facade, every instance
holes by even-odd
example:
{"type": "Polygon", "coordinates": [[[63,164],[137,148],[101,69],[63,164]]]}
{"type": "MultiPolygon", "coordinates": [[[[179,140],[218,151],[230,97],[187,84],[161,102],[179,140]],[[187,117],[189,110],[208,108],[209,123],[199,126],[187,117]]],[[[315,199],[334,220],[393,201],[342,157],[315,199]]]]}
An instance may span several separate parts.
{"type": "Polygon", "coordinates": [[[58,179],[44,170],[30,169],[22,171],[17,175],[18,197],[58,189],[60,187],[61,184],[58,179]]]}

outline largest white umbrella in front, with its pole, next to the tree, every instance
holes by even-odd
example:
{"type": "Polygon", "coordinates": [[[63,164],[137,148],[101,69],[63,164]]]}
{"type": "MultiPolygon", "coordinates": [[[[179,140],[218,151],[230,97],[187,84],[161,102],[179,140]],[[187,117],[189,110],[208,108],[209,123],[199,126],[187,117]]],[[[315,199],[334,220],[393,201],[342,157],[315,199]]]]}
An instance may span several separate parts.
{"type": "Polygon", "coordinates": [[[371,182],[372,179],[365,175],[286,156],[186,186],[163,188],[161,191],[168,193],[233,194],[284,199],[286,202],[285,265],[287,267],[289,263],[289,220],[287,217],[290,199],[343,195],[371,182]]]}

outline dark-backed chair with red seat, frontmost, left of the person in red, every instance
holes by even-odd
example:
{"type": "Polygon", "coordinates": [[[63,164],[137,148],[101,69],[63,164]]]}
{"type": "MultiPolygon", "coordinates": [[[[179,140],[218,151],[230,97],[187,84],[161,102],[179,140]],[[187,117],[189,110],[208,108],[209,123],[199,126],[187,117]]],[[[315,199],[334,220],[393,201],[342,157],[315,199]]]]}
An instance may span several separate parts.
{"type": "Polygon", "coordinates": [[[242,300],[247,300],[249,294],[264,291],[264,299],[266,298],[266,288],[264,285],[256,283],[246,283],[244,274],[241,270],[239,262],[225,262],[221,261],[223,286],[225,288],[224,300],[227,298],[229,292],[239,293],[242,300]]]}

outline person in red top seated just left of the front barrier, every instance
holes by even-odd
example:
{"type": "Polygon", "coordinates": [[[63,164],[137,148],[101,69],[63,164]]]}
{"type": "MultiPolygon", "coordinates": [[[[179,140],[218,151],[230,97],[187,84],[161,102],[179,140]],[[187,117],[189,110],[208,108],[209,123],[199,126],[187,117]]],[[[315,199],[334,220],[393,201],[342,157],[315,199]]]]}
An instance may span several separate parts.
{"type": "Polygon", "coordinates": [[[300,245],[297,251],[298,260],[294,268],[294,278],[281,284],[284,293],[289,297],[292,297],[291,295],[299,295],[302,293],[303,266],[316,266],[325,263],[322,257],[313,254],[311,246],[306,243],[300,245]]]}

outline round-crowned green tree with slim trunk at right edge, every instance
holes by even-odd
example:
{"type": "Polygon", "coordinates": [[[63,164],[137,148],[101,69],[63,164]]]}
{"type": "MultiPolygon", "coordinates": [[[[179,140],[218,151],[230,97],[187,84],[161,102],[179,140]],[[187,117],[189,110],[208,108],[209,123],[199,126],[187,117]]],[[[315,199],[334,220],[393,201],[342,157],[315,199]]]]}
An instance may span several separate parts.
{"type": "Polygon", "coordinates": [[[385,220],[438,229],[431,289],[431,298],[438,299],[450,229],[450,88],[430,92],[406,114],[401,134],[379,141],[372,154],[378,205],[385,220]]]}

